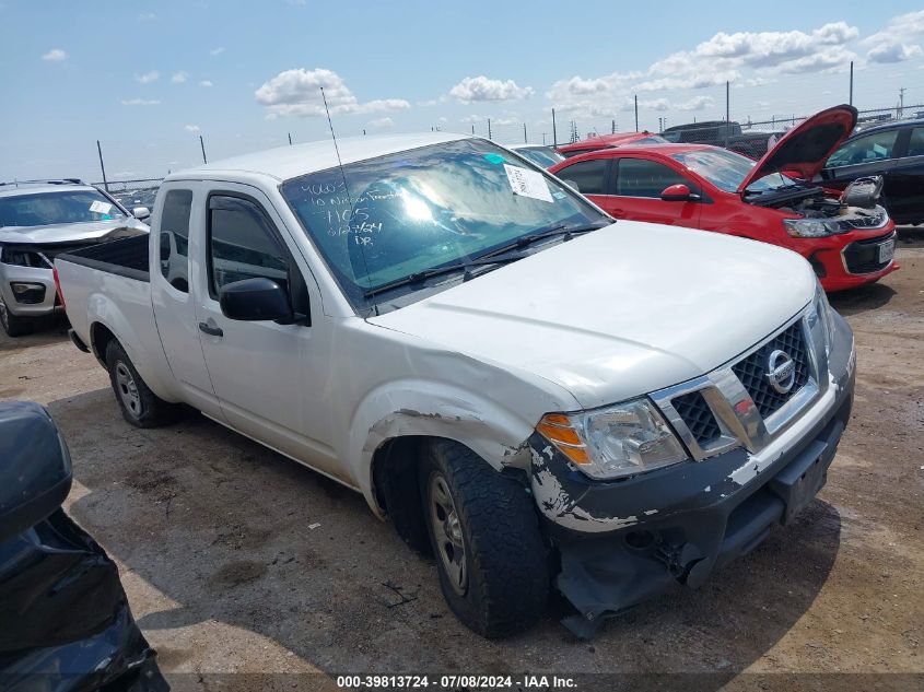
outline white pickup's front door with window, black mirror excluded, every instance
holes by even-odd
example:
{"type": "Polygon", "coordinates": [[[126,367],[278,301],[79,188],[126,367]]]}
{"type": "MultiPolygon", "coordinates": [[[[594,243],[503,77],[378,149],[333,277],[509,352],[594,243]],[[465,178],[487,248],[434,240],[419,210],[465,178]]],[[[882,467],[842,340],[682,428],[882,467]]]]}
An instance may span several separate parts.
{"type": "Polygon", "coordinates": [[[317,284],[260,190],[211,185],[203,204],[198,328],[224,419],[245,435],[350,482],[331,446],[331,408],[325,400],[330,331],[317,284]],[[300,315],[295,324],[222,314],[222,288],[258,277],[286,290],[300,315]]]}

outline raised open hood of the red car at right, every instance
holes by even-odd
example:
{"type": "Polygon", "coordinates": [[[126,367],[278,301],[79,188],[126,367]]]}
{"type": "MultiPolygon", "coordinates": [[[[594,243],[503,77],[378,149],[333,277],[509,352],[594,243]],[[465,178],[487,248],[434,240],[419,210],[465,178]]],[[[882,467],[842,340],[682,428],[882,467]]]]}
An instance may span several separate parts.
{"type": "Polygon", "coordinates": [[[795,177],[810,180],[851,136],[855,126],[856,108],[853,106],[834,106],[816,113],[780,138],[738,186],[738,193],[771,173],[792,173],[795,177]]]}

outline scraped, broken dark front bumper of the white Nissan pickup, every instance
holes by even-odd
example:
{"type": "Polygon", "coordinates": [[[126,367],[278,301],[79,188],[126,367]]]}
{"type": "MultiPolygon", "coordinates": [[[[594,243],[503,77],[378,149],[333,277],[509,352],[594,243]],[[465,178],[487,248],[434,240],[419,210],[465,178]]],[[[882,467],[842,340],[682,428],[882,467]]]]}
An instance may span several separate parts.
{"type": "Polygon", "coordinates": [[[550,504],[537,497],[561,556],[557,586],[581,613],[565,620],[575,634],[592,634],[603,617],[677,582],[701,585],[811,502],[824,485],[853,402],[853,336],[837,319],[839,339],[829,354],[832,386],[761,450],[760,462],[739,447],[703,461],[599,482],[552,451],[538,434],[530,437],[534,484],[538,474],[566,499],[550,504]],[[753,476],[741,483],[742,471],[751,469],[753,476]]]}

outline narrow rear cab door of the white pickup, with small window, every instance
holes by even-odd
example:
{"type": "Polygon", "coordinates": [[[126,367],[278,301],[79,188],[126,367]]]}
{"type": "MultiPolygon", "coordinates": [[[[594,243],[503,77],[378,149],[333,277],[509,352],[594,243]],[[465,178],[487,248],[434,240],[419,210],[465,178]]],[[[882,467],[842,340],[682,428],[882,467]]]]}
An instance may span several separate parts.
{"type": "Polygon", "coordinates": [[[212,418],[221,418],[206,359],[199,343],[196,301],[190,292],[189,230],[201,223],[198,183],[168,183],[161,191],[160,213],[151,230],[151,300],[157,332],[171,372],[186,401],[212,418]]]}

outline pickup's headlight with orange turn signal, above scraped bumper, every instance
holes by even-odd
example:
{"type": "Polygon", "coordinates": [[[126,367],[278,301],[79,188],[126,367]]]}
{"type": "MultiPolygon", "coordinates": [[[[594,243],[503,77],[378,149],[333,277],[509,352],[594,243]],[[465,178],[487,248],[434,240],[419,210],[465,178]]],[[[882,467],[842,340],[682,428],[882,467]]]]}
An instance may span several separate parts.
{"type": "Polygon", "coordinates": [[[633,476],[689,458],[646,398],[580,413],[549,413],[536,431],[590,478],[633,476]]]}

